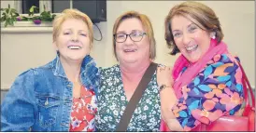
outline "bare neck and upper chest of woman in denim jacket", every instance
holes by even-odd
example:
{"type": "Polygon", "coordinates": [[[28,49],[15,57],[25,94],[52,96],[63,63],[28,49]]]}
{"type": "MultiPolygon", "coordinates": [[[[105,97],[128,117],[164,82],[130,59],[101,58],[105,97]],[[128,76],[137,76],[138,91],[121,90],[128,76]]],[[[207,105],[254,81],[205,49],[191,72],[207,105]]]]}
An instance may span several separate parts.
{"type": "Polygon", "coordinates": [[[79,73],[81,69],[81,61],[69,61],[60,57],[67,79],[73,83],[79,82],[79,73]]]}

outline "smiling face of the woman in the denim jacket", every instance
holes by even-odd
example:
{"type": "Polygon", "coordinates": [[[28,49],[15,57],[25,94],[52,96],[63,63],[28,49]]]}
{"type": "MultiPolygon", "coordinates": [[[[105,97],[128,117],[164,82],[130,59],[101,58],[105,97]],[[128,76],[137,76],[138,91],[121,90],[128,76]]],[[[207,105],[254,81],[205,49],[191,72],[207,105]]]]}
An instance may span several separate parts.
{"type": "Polygon", "coordinates": [[[78,19],[64,20],[54,46],[61,59],[83,60],[91,48],[87,24],[78,19]]]}

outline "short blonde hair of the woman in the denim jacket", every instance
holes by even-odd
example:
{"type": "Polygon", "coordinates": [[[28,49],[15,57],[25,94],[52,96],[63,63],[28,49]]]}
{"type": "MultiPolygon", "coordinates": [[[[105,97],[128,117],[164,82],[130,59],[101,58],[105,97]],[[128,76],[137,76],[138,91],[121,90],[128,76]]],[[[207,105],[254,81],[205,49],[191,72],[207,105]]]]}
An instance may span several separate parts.
{"type": "Polygon", "coordinates": [[[64,9],[64,11],[60,14],[57,15],[52,23],[52,27],[53,27],[53,42],[56,41],[57,37],[60,34],[60,29],[62,24],[64,23],[64,20],[68,20],[68,19],[77,19],[77,20],[83,20],[87,26],[88,26],[88,30],[89,30],[89,38],[90,38],[90,42],[91,42],[91,46],[93,43],[93,24],[92,24],[92,20],[84,13],[80,12],[78,9],[64,9]]]}

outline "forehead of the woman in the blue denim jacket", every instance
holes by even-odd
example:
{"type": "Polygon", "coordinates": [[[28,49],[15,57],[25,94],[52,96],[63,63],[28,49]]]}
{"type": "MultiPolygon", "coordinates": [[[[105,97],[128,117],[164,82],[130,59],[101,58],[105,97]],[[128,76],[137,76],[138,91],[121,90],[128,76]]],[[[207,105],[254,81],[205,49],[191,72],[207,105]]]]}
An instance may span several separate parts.
{"type": "Polygon", "coordinates": [[[85,30],[88,31],[88,26],[83,20],[78,19],[67,19],[64,20],[63,24],[61,25],[61,29],[78,29],[78,30],[85,30]]]}

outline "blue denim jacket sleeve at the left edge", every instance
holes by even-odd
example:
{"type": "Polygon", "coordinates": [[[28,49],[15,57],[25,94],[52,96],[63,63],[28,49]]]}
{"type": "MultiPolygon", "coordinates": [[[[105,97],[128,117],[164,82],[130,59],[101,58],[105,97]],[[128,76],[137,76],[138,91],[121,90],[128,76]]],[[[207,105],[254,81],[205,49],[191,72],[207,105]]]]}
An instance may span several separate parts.
{"type": "Polygon", "coordinates": [[[1,104],[1,131],[29,131],[37,112],[33,70],[21,73],[1,104]]]}

